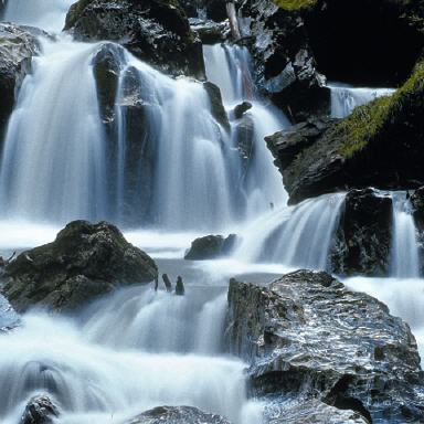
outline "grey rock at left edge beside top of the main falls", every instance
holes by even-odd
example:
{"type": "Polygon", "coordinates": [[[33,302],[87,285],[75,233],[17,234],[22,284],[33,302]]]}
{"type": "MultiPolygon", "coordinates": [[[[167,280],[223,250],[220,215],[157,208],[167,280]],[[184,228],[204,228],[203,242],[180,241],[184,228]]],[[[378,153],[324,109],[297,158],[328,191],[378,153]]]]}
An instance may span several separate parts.
{"type": "Polygon", "coordinates": [[[13,110],[23,78],[31,71],[31,60],[39,51],[36,35],[30,26],[0,23],[0,139],[13,110]]]}

